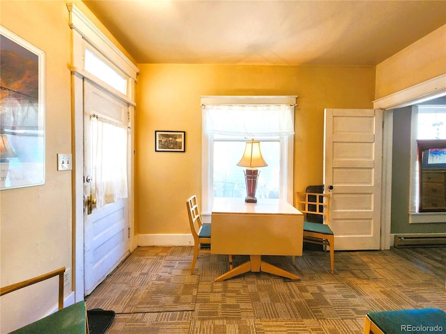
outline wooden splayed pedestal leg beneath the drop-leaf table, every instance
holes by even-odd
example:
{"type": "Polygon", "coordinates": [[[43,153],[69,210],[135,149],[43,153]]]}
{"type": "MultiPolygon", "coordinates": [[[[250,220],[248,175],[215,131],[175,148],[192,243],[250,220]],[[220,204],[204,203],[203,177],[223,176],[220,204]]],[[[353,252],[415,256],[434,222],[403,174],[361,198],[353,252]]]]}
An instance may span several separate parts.
{"type": "Polygon", "coordinates": [[[300,277],[286,271],[284,269],[280,269],[279,267],[273,266],[267,262],[261,260],[261,255],[249,255],[249,261],[240,264],[240,266],[231,269],[230,271],[224,273],[222,276],[215,278],[215,282],[221,282],[222,280],[227,280],[228,278],[232,278],[242,273],[247,273],[248,271],[253,271],[258,273],[259,271],[263,271],[266,273],[272,273],[273,275],[282,276],[286,278],[290,278],[291,280],[299,280],[300,277]]]}

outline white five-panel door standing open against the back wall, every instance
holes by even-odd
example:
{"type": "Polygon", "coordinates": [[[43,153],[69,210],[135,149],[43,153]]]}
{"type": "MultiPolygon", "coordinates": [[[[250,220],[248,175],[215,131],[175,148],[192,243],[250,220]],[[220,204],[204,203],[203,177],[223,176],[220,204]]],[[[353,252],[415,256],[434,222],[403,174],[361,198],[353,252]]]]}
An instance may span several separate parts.
{"type": "Polygon", "coordinates": [[[324,184],[335,250],[380,248],[383,113],[325,109],[324,184]]]}

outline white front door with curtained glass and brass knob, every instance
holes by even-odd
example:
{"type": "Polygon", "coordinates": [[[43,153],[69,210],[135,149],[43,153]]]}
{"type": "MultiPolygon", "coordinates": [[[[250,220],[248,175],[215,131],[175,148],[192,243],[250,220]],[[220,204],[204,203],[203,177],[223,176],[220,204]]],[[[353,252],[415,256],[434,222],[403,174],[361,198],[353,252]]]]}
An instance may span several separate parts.
{"type": "Polygon", "coordinates": [[[84,294],[130,253],[128,104],[84,80],[84,294]]]}

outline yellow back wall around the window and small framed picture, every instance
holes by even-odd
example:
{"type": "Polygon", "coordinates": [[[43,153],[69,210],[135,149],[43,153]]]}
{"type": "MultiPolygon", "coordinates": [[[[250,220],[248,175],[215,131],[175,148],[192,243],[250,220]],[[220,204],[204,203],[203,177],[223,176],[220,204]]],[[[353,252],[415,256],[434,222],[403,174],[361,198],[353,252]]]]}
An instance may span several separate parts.
{"type": "Polygon", "coordinates": [[[374,67],[139,64],[136,221],[140,234],[190,233],[201,197],[201,95],[298,95],[295,190],[323,180],[323,109],[372,108],[374,67]],[[155,152],[155,130],[186,132],[186,152],[155,152]]]}

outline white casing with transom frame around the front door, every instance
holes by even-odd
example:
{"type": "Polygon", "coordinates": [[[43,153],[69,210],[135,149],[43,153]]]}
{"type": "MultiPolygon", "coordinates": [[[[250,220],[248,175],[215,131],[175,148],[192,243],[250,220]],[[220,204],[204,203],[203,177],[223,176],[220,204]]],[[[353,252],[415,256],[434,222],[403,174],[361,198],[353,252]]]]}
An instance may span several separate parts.
{"type": "MultiPolygon", "coordinates": [[[[135,103],[135,82],[139,72],[138,67],[134,65],[123,52],[109,40],[107,36],[96,27],[93,22],[86,17],[81,10],[73,3],[67,3],[69,13],[69,26],[72,35],[72,58],[70,63],[72,79],[72,132],[73,132],[73,233],[75,245],[73,249],[73,280],[75,302],[84,300],[84,81],[89,80],[98,84],[98,86],[107,90],[107,92],[120,98],[128,104],[130,113],[130,127],[134,122],[135,103]],[[126,93],[120,93],[114,90],[107,82],[98,80],[94,75],[85,70],[86,47],[97,50],[97,55],[102,58],[107,65],[114,68],[127,79],[126,93]]],[[[132,131],[129,130],[129,152],[134,152],[134,138],[132,131]]],[[[128,205],[129,205],[129,223],[130,230],[134,230],[134,201],[133,201],[133,183],[134,183],[134,154],[128,157],[128,205]]],[[[130,251],[137,246],[137,238],[130,233],[130,251]]]]}

